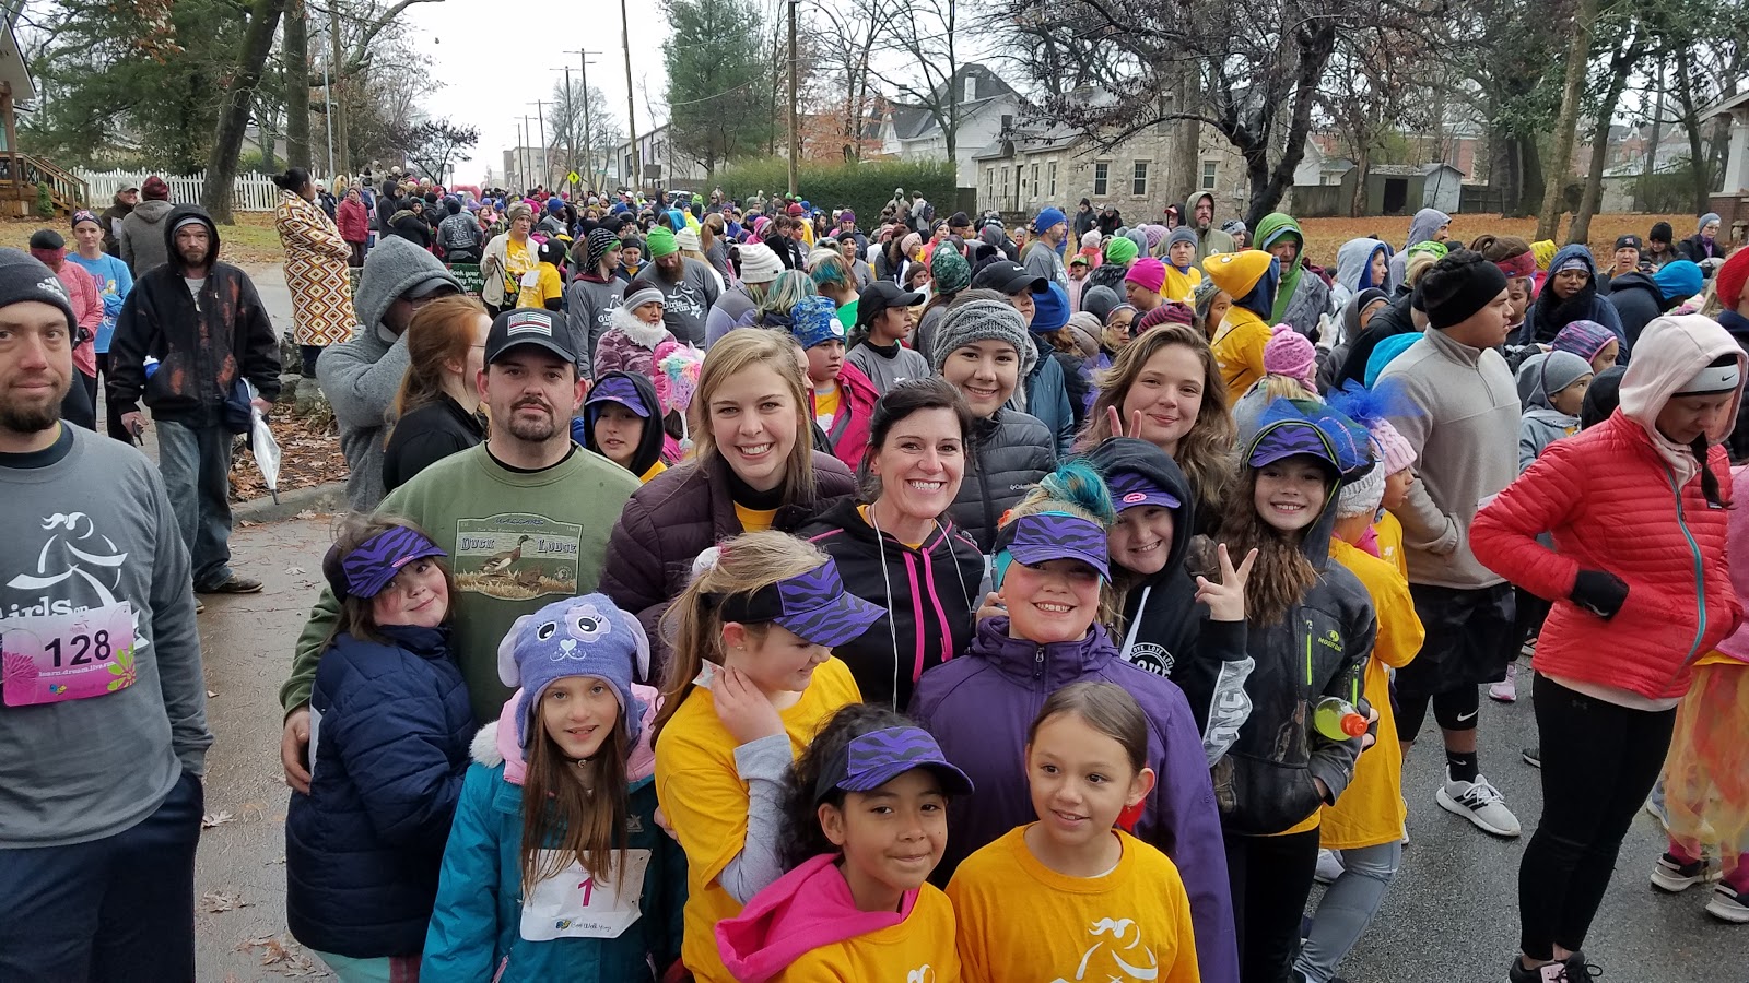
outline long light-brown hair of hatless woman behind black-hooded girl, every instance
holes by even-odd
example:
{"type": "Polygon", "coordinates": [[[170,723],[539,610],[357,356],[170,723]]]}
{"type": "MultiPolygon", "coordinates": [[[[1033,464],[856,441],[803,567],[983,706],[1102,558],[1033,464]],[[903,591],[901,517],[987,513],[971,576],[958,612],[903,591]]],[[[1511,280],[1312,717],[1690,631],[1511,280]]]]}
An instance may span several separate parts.
{"type": "Polygon", "coordinates": [[[1149,359],[1160,352],[1182,345],[1196,353],[1203,367],[1203,402],[1196,411],[1196,423],[1179,439],[1179,450],[1172,460],[1184,469],[1184,478],[1196,492],[1196,509],[1205,514],[1217,514],[1233,485],[1233,444],[1238,441],[1238,425],[1233,423],[1233,411],[1226,406],[1226,381],[1221,380],[1221,367],[1214,360],[1209,339],[1195,327],[1184,324],[1163,324],[1144,331],[1135,341],[1125,345],[1112,360],[1111,369],[1098,376],[1098,397],[1088,411],[1086,425],[1081,429],[1077,451],[1086,451],[1118,434],[1111,432],[1107,409],[1123,411],[1123,401],[1130,395],[1130,387],[1140,378],[1149,359]]]}

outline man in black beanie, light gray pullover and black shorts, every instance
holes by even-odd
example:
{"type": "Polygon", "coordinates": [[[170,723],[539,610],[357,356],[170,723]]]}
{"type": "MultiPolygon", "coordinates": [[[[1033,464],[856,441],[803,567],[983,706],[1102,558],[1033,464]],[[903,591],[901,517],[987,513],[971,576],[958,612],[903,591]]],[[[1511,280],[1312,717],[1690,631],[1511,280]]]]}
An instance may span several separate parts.
{"type": "Polygon", "coordinates": [[[1518,819],[1478,771],[1476,719],[1485,682],[1506,679],[1518,652],[1513,586],[1469,551],[1483,502],[1518,478],[1518,390],[1506,341],[1506,275],[1471,250],[1453,250],[1417,285],[1427,332],[1378,376],[1415,411],[1390,423],[1415,448],[1417,476],[1403,505],[1415,612],[1427,642],[1397,670],[1397,735],[1415,743],[1427,707],[1445,735],[1446,780],[1436,801],[1495,836],[1518,819]]]}

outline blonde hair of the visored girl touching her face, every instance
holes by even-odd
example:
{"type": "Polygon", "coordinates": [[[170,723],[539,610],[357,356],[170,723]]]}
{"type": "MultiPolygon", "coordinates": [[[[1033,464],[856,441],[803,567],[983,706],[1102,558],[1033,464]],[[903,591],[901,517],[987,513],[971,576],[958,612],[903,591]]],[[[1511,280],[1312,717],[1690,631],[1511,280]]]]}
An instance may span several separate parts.
{"type": "MultiPolygon", "coordinates": [[[[726,339],[736,334],[743,332],[729,332],[726,339]]],[[[806,574],[822,563],[826,553],[817,546],[782,532],[747,532],[717,546],[715,563],[700,570],[663,614],[661,635],[672,654],[663,672],[661,708],[651,728],[651,745],[691,696],[693,680],[703,665],[722,665],[722,602],[806,574]]],[[[763,623],[745,628],[754,638],[763,638],[766,631],[763,623]]]]}

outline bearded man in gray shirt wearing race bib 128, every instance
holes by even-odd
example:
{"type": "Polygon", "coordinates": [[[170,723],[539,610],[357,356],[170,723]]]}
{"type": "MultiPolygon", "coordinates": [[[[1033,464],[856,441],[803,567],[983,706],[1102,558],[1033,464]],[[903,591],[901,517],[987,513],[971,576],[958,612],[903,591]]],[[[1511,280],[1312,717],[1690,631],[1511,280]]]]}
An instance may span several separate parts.
{"type": "Polygon", "coordinates": [[[0,980],[194,980],[189,554],[152,462],[59,420],[73,329],[0,248],[0,980]]]}

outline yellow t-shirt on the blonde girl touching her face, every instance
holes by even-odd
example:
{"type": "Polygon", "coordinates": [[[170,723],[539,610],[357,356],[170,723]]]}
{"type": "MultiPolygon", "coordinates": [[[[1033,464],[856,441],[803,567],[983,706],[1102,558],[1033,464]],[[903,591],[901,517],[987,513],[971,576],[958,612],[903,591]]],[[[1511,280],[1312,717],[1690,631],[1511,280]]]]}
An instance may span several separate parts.
{"type": "MultiPolygon", "coordinates": [[[[840,707],[861,701],[845,663],[826,659],[801,700],[780,714],[791,752],[801,754],[840,707]]],[[[656,801],[686,850],[680,959],[700,983],[733,983],[717,953],[715,927],[742,911],[742,903],[717,883],[722,868],[747,845],[747,782],[735,768],[736,745],[705,687],[693,687],[656,743],[656,801]]]]}

